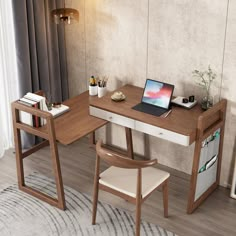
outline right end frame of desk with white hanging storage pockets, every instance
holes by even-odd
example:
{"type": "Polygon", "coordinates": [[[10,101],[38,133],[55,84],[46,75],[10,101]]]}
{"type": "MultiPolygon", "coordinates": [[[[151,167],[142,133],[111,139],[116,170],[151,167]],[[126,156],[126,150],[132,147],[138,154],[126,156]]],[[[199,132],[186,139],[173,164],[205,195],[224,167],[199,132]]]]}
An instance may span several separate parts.
{"type": "Polygon", "coordinates": [[[191,214],[219,185],[225,113],[226,100],[221,100],[198,118],[188,214],[191,214]],[[208,166],[210,161],[212,162],[208,166]]]}

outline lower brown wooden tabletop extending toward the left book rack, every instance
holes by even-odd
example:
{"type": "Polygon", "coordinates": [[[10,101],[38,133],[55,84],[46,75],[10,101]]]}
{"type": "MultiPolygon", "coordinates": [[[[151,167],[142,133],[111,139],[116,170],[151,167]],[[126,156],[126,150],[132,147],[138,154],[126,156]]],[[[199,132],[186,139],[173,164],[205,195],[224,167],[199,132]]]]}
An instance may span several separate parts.
{"type": "Polygon", "coordinates": [[[60,143],[73,143],[107,123],[89,115],[89,101],[92,102],[93,99],[86,91],[63,102],[70,110],[54,120],[56,139],[60,143]]]}

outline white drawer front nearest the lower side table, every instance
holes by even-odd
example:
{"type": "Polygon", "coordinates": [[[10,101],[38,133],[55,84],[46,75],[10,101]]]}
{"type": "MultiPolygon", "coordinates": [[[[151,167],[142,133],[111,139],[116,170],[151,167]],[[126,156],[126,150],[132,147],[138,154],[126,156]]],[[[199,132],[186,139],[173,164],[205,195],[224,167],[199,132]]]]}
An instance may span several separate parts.
{"type": "Polygon", "coordinates": [[[134,120],[125,116],[117,115],[115,113],[105,111],[93,106],[89,106],[89,113],[92,116],[96,116],[101,119],[108,120],[112,123],[134,129],[134,120]]]}

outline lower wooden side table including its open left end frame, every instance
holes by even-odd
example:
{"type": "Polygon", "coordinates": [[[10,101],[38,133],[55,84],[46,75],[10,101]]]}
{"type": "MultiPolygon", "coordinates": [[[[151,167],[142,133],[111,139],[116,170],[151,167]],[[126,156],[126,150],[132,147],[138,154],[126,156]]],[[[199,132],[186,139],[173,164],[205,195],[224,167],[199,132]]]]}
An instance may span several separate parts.
{"type": "Polygon", "coordinates": [[[65,209],[66,205],[64,188],[56,141],[68,145],[88,134],[91,134],[90,140],[94,143],[94,131],[105,125],[107,121],[89,115],[89,100],[92,101],[93,97],[89,97],[88,92],[84,92],[77,97],[65,101],[64,104],[69,106],[70,110],[55,119],[49,112],[28,107],[18,103],[17,101],[12,103],[13,130],[15,137],[19,189],[45,202],[48,202],[53,206],[56,206],[60,209],[65,209]],[[43,117],[46,119],[47,124],[43,127],[35,128],[21,123],[19,119],[20,111],[25,111],[30,114],[43,117]],[[44,141],[23,152],[20,135],[21,130],[24,130],[35,136],[39,136],[43,138],[44,141]],[[47,145],[50,145],[58,199],[47,196],[42,192],[26,186],[25,184],[23,159],[47,145]]]}

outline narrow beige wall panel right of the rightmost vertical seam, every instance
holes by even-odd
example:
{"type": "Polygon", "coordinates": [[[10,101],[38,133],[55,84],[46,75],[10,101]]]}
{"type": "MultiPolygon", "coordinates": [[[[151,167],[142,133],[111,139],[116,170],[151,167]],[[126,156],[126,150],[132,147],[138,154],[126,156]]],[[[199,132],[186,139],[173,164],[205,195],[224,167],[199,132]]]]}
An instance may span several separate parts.
{"type": "Polygon", "coordinates": [[[221,183],[231,184],[236,164],[236,1],[229,1],[221,95],[227,98],[227,116],[221,183]]]}

